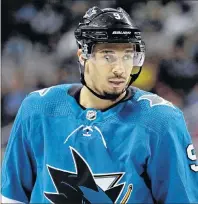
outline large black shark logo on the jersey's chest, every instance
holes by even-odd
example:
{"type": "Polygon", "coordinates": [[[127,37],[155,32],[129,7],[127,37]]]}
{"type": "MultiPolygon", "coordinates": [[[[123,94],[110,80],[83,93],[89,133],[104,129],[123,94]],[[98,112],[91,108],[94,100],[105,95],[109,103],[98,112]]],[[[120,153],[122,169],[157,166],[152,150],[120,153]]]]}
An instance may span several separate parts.
{"type": "MultiPolygon", "coordinates": [[[[87,162],[70,147],[76,172],[64,171],[47,165],[56,192],[44,192],[52,203],[116,203],[125,183],[118,182],[124,173],[93,174],[87,162]]],[[[132,193],[132,184],[122,198],[127,203],[132,193]]]]}

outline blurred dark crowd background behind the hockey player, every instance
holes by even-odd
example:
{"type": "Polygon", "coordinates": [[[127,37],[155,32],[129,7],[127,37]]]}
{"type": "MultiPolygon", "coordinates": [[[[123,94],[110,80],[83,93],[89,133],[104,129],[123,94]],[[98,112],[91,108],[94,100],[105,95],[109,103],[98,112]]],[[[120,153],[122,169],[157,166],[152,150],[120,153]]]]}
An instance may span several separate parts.
{"type": "Polygon", "coordinates": [[[183,110],[198,152],[198,1],[184,0],[2,0],[2,150],[29,92],[80,81],[73,32],[92,6],[120,6],[140,27],[146,61],[134,86],[183,110]]]}

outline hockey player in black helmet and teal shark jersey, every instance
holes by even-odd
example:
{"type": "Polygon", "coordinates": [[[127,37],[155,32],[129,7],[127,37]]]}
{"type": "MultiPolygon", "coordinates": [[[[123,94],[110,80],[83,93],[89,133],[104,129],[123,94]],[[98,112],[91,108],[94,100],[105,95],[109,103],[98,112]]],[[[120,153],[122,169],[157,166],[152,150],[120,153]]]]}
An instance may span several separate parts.
{"type": "Polygon", "coordinates": [[[129,15],[93,7],[75,37],[82,85],[23,101],[2,166],[3,203],[197,203],[182,112],[130,86],[145,45],[129,15]]]}

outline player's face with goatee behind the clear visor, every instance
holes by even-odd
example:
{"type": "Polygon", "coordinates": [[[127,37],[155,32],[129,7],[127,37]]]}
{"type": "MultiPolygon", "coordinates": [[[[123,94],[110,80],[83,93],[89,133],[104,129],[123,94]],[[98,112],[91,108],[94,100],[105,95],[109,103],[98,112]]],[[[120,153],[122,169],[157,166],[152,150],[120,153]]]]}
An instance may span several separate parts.
{"type": "Polygon", "coordinates": [[[102,95],[120,95],[129,80],[133,68],[133,58],[133,44],[95,45],[85,69],[87,85],[102,95]]]}

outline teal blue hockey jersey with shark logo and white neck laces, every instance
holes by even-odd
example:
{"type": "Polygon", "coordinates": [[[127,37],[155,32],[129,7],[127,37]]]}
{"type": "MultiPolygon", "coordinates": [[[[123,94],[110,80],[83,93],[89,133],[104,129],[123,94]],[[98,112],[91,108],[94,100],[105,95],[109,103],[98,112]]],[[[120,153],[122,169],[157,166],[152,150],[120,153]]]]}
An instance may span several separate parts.
{"type": "Polygon", "coordinates": [[[105,111],[83,109],[75,87],[23,101],[2,165],[3,202],[198,202],[198,162],[178,108],[131,88],[105,111]]]}

